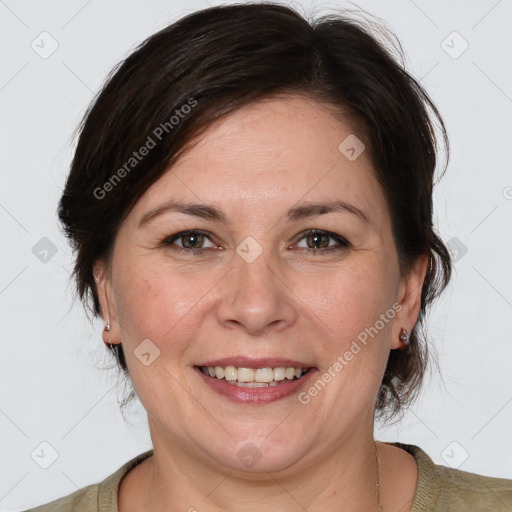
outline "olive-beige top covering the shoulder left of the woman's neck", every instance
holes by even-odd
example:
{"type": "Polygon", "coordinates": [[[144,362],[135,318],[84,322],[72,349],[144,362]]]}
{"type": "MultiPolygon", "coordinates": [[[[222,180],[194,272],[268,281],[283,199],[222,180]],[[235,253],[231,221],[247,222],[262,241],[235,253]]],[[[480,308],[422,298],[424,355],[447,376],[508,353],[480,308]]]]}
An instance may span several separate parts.
{"type": "Polygon", "coordinates": [[[102,482],[88,485],[72,494],[25,512],[99,512],[100,510],[102,512],[117,512],[117,493],[122,478],[151,455],[153,455],[153,450],[141,453],[102,482]]]}

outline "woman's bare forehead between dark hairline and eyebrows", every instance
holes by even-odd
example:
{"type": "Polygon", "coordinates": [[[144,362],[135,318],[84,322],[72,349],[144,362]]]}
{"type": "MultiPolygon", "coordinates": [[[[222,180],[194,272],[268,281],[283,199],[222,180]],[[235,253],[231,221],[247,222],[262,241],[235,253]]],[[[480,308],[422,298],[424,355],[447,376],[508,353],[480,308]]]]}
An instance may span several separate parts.
{"type": "Polygon", "coordinates": [[[312,99],[251,103],[194,141],[171,172],[141,197],[136,213],[173,198],[252,208],[260,214],[301,199],[342,199],[357,203],[378,222],[385,200],[369,155],[363,151],[353,159],[345,151],[345,141],[357,144],[354,137],[348,123],[312,99]]]}

